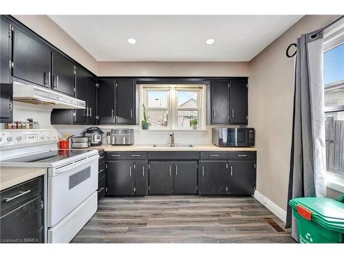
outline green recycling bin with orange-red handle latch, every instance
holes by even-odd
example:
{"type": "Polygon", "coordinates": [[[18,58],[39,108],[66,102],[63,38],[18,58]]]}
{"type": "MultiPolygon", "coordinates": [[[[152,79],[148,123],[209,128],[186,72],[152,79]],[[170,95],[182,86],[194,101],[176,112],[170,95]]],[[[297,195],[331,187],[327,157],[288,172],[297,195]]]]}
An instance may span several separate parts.
{"type": "Polygon", "coordinates": [[[344,243],[344,195],[339,200],[302,197],[289,201],[299,243],[344,243]]]}

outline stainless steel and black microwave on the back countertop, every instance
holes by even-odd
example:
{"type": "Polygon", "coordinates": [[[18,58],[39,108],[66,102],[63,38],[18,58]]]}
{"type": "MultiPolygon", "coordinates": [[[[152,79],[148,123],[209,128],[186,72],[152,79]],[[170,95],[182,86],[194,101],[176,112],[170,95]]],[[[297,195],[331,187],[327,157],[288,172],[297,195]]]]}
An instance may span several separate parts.
{"type": "Polygon", "coordinates": [[[218,147],[255,146],[254,128],[213,128],[213,144],[218,147]]]}

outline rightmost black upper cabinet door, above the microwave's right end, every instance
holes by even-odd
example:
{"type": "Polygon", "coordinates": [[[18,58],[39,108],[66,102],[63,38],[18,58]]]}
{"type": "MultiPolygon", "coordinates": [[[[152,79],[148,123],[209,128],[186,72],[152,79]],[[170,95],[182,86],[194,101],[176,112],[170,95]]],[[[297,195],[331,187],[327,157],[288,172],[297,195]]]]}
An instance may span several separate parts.
{"type": "Polygon", "coordinates": [[[248,84],[247,79],[230,80],[230,123],[248,122],[248,84]]]}

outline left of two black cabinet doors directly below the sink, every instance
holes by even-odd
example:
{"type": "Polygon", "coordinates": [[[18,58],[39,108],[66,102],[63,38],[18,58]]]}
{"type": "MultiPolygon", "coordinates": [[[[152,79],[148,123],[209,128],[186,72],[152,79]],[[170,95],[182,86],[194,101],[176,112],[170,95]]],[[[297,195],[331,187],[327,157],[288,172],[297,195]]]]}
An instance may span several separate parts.
{"type": "Polygon", "coordinates": [[[149,193],[173,193],[173,162],[149,162],[149,193]]]}

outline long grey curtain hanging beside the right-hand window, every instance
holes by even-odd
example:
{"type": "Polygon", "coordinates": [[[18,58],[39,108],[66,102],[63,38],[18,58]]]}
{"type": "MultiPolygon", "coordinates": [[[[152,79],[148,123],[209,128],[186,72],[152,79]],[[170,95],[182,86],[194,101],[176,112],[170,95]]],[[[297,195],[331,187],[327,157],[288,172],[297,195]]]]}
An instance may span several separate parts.
{"type": "MultiPolygon", "coordinates": [[[[297,39],[294,73],[294,113],[290,153],[289,200],[325,197],[325,114],[323,91],[323,33],[297,39]]],[[[288,205],[286,227],[298,241],[297,221],[288,205]]]]}

